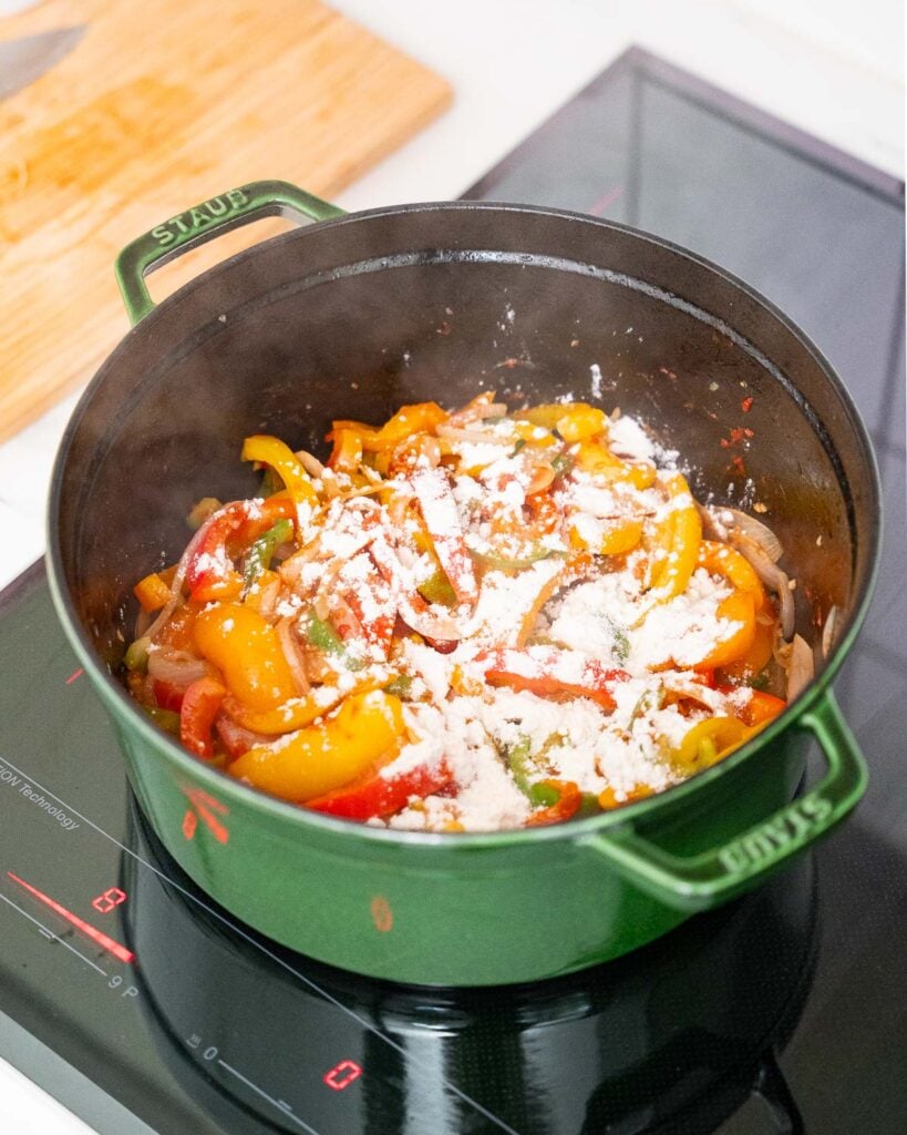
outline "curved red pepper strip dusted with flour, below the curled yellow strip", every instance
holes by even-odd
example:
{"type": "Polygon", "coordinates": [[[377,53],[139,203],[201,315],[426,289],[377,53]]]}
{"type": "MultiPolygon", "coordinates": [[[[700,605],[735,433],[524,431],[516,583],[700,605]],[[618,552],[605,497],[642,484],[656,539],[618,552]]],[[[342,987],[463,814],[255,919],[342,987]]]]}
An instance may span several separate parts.
{"type": "Polygon", "coordinates": [[[248,547],[278,520],[296,520],[296,504],[282,493],[265,501],[232,501],[215,513],[186,565],[186,586],[196,603],[237,598],[243,577],[231,548],[248,547]]]}

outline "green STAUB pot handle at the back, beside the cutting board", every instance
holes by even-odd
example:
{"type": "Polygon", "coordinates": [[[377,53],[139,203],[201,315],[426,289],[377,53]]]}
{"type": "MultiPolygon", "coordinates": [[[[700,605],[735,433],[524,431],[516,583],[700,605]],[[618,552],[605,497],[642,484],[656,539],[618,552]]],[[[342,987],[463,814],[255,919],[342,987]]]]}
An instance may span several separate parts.
{"type": "Polygon", "coordinates": [[[154,309],[145,286],[145,276],[154,268],[231,228],[276,216],[305,224],[342,217],[344,210],[289,182],[249,182],[177,213],[136,237],[117,257],[113,271],[129,322],[135,326],[154,309]]]}

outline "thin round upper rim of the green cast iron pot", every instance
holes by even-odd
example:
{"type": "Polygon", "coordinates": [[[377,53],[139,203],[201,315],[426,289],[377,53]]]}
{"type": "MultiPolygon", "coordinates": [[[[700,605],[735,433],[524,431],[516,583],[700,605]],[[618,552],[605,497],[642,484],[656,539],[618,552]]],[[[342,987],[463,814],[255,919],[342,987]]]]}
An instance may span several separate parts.
{"type": "MultiPolygon", "coordinates": [[[[679,301],[679,297],[673,296],[672,293],[667,292],[667,289],[659,285],[646,285],[644,280],[629,276],[622,276],[622,278],[627,281],[636,279],[637,283],[645,285],[650,294],[654,293],[663,299],[673,300],[675,302],[679,301]]],[[[247,302],[248,301],[245,300],[231,310],[241,310],[247,302]]],[[[685,309],[694,317],[697,317],[698,314],[709,314],[705,309],[698,308],[687,301],[679,302],[683,303],[685,309]]],[[[712,319],[714,317],[712,317],[712,319]]],[[[724,325],[724,327],[728,330],[734,330],[734,328],[730,328],[729,325],[724,325]]],[[[196,327],[195,330],[197,329],[198,328],[196,327]]],[[[734,334],[736,339],[749,344],[749,340],[740,336],[739,333],[735,331],[734,334]]],[[[173,351],[177,346],[178,344],[169,344],[168,353],[173,351]]],[[[749,346],[753,347],[757,356],[764,358],[762,352],[758,351],[754,344],[749,344],[749,346]]],[[[785,378],[785,376],[781,377],[785,378]]],[[[789,384],[787,388],[790,389],[789,384]]],[[[794,389],[796,390],[797,388],[794,387],[794,389]]],[[[113,348],[111,354],[101,364],[79,397],[78,403],[70,415],[69,422],[67,423],[66,431],[63,432],[57,456],[54,459],[46,520],[48,580],[53,603],[57,608],[57,614],[60,617],[70,645],[75,649],[76,655],[91,678],[95,690],[101,695],[102,700],[107,703],[108,708],[119,718],[122,718],[125,715],[129,725],[133,729],[137,729],[144,741],[161,756],[167,757],[171,764],[175,764],[179,768],[180,772],[189,775],[193,780],[201,780],[212,790],[219,791],[222,796],[228,797],[232,802],[236,802],[244,808],[252,808],[254,812],[261,813],[263,816],[280,818],[294,825],[300,825],[303,829],[311,825],[315,831],[320,831],[329,836],[341,834],[353,835],[367,842],[373,842],[376,846],[391,844],[410,849],[442,848],[444,850],[463,848],[467,851],[485,848],[517,847],[526,843],[539,844],[544,841],[560,841],[565,839],[579,844],[586,841],[588,836],[600,832],[629,825],[631,822],[644,817],[650,818],[653,814],[656,814],[659,810],[667,807],[669,801],[672,806],[686,800],[700,788],[714,782],[720,776],[729,775],[732,770],[738,768],[751,757],[755,757],[756,753],[761,749],[769,749],[771,742],[777,737],[791,726],[802,714],[806,713],[812,706],[825,697],[832,678],[840,669],[846,654],[853,646],[854,640],[866,617],[874,590],[875,579],[879,572],[882,540],[881,481],[875,453],[862,417],[854,404],[847,387],[838,377],[824,354],[816,347],[812,339],[809,339],[808,336],[806,336],[806,334],[771,300],[765,297],[761,292],[752,287],[740,277],[728,271],[714,261],[711,261],[696,252],[692,252],[681,245],[675,244],[671,241],[664,239],[663,237],[656,236],[652,233],[634,228],[633,226],[608,220],[605,218],[587,216],[571,210],[553,209],[544,205],[531,205],[518,202],[490,201],[429,201],[412,204],[383,205],[375,209],[366,209],[358,212],[347,213],[333,219],[322,220],[315,226],[281,233],[265,242],[262,242],[261,244],[253,245],[252,247],[236,253],[184,284],[171,295],[167,296],[159,304],[156,304],[154,310],[142,319],[139,323],[136,323],[127,331],[124,338],[113,348]],[[261,251],[266,247],[272,247],[278,243],[286,244],[291,241],[305,238],[310,232],[320,232],[322,229],[358,224],[384,217],[404,217],[410,213],[477,211],[503,212],[508,215],[526,213],[548,218],[556,217],[565,221],[578,221],[584,225],[591,225],[597,228],[627,234],[633,238],[639,239],[651,246],[668,250],[670,253],[684,260],[692,261],[707,271],[713,272],[722,280],[729,283],[732,287],[744,293],[751,300],[755,301],[778,322],[780,322],[785,330],[787,330],[787,333],[797,340],[800,348],[809,354],[814,362],[819,365],[823,378],[830,384],[846,407],[848,412],[848,424],[859,442],[859,447],[865,461],[866,471],[868,473],[870,484],[867,486],[867,496],[868,506],[872,508],[872,516],[870,518],[871,547],[867,548],[868,568],[865,573],[865,578],[861,582],[859,590],[855,596],[855,603],[851,607],[848,620],[841,629],[841,633],[838,636],[831,654],[824,661],[821,672],[803,691],[800,691],[794,701],[790,703],[783,713],[781,713],[773,722],[761,730],[756,737],[740,746],[739,749],[736,749],[730,756],[723,758],[711,768],[703,770],[680,783],[673,784],[670,788],[654,793],[645,799],[624,805],[622,807],[602,813],[601,815],[588,816],[582,819],[571,819],[560,824],[552,824],[550,826],[506,829],[490,832],[449,833],[378,827],[370,824],[362,824],[354,821],[347,821],[311,812],[304,806],[294,805],[289,801],[269,796],[260,789],[245,784],[244,782],[231,777],[228,773],[210,765],[205,765],[197,758],[189,755],[176,740],[158,729],[150,718],[139,712],[121,683],[117,681],[110,670],[100,662],[94,650],[94,646],[90,641],[80,620],[74,616],[73,603],[66,583],[67,573],[62,566],[59,538],[60,527],[58,522],[62,496],[63,472],[69,449],[78,430],[80,420],[87,411],[95,390],[104,381],[110,369],[116,367],[124,355],[128,354],[130,344],[136,336],[142,334],[153,334],[156,323],[161,319],[167,318],[168,313],[172,311],[179,302],[184,301],[195,288],[204,286],[215,276],[234,271],[239,264],[247,261],[249,258],[254,258],[260,254],[261,251]]],[[[850,536],[853,552],[853,524],[850,536]]]]}

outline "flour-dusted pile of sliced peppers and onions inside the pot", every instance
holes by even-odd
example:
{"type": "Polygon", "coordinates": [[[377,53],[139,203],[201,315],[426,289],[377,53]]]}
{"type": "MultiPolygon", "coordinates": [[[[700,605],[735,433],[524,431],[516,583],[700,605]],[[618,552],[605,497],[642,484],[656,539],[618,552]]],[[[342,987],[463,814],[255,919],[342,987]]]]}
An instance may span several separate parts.
{"type": "Polygon", "coordinates": [[[200,759],[325,815],[490,831],[663,791],[785,708],[787,577],[633,418],[484,393],[329,439],[323,465],[247,438],[261,496],[136,586],[129,688],[200,759]]]}

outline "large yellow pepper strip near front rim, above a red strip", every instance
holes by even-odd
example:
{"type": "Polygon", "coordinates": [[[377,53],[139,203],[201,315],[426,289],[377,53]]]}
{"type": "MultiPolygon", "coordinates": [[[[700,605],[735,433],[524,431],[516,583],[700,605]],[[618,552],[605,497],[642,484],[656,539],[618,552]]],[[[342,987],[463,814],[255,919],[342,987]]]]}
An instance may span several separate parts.
{"type": "Polygon", "coordinates": [[[285,800],[305,804],[362,776],[399,747],[402,704],[383,690],[354,693],[320,724],[255,746],[229,766],[231,776],[285,800]]]}

